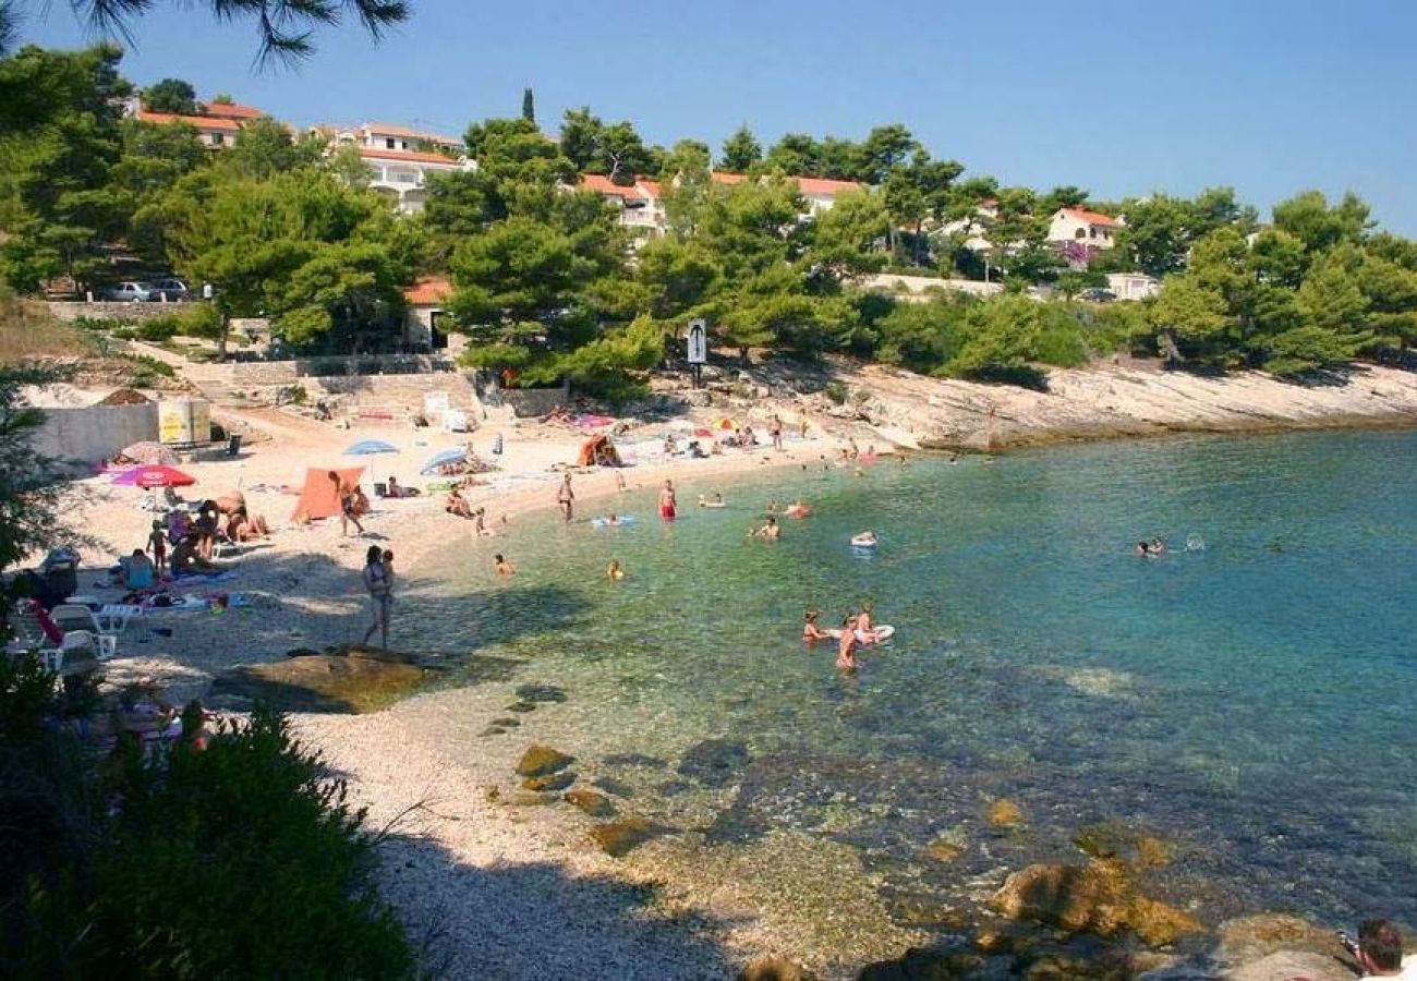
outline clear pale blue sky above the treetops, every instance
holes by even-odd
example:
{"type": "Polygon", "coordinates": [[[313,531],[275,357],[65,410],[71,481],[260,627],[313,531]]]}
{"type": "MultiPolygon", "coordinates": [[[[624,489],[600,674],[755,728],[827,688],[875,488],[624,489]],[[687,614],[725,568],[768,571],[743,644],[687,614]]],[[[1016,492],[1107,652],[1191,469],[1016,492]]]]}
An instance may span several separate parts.
{"type": "MultiPolygon", "coordinates": [[[[1355,190],[1417,237],[1417,3],[1408,0],[410,0],[383,44],[322,31],[299,69],[254,65],[255,28],[157,0],[123,62],[293,122],[401,122],[461,135],[568,106],[650,142],[748,123],[863,138],[903,122],[972,174],[1095,198],[1230,184],[1261,208],[1355,190]]],[[[38,11],[43,4],[21,1],[38,11]]],[[[196,0],[204,7],[204,0],[196,0]]],[[[67,0],[24,40],[92,40],[67,0]]]]}

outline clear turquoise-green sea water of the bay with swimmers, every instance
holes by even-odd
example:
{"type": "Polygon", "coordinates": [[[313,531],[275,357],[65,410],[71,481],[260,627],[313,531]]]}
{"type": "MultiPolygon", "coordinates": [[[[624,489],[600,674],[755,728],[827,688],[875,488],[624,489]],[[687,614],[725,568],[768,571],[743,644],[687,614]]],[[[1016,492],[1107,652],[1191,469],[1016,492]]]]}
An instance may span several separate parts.
{"type": "Polygon", "coordinates": [[[1414,923],[1414,459],[1417,432],[1379,431],[689,479],[673,525],[649,490],[597,505],[629,527],[527,519],[452,551],[418,604],[429,644],[563,688],[591,768],[713,842],[820,834],[884,893],[951,900],[1125,819],[1176,849],[1152,892],[1203,919],[1414,923]],[[714,489],[727,509],[691,505],[714,489]],[[745,540],[799,495],[812,517],[745,540]],[[847,547],[866,527],[874,554],[847,547]],[[1153,534],[1170,554],[1135,556],[1153,534]],[[843,678],[803,651],[802,608],[866,598],[898,634],[843,678]],[[745,756],[677,773],[701,740],[745,756]],[[998,797],[1027,834],[985,826],[998,797]],[[922,859],[941,834],[966,842],[948,866],[922,859]]]}

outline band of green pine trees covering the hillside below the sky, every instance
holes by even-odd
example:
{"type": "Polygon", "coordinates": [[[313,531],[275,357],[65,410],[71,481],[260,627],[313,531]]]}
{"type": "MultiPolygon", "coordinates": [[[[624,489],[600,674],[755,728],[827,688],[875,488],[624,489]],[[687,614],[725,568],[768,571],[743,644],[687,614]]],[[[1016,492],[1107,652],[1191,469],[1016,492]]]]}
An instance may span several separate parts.
{"type": "MultiPolygon", "coordinates": [[[[771,146],[743,126],[714,153],[650,145],[582,106],[553,139],[527,89],[520,115],[468,126],[475,167],[432,174],[424,210],[400,214],[357,152],[273,119],[213,152],[188,125],[123,116],[119,65],[109,45],[0,60],[0,276],[21,293],[84,289],[133,255],[218,285],[215,310],[184,330],[220,337],[231,318],[266,316],[292,350],[347,352],[397,344],[405,288],[445,276],[469,364],[612,398],[639,390],[696,316],[741,357],[842,353],[1027,386],[1119,350],[1299,377],[1404,357],[1417,337],[1417,245],[1374,231],[1352,194],[1304,191],[1267,223],[1230,189],[1094,201],[969,174],[898,123],[771,146]],[[582,174],[657,181],[663,234],[632,237],[582,174]],[[798,183],[813,177],[862,189],[818,208],[798,183]],[[1080,258],[1049,241],[1050,218],[1074,207],[1117,218],[1112,248],[1080,258]],[[883,271],[989,279],[1003,295],[866,289],[883,271]],[[1107,272],[1163,289],[1077,302],[1107,272]]],[[[140,98],[200,106],[183,79],[140,98]]]]}

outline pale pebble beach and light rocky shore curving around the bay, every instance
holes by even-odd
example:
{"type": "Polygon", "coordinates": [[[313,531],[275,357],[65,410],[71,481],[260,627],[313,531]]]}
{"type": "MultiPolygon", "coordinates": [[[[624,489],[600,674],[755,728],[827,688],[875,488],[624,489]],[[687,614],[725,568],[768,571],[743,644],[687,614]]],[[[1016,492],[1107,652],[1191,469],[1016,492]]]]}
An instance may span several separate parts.
{"type": "MultiPolygon", "coordinates": [[[[639,425],[622,439],[639,449],[636,465],[622,471],[628,489],[649,489],[669,476],[682,488],[682,509],[691,509],[694,495],[720,485],[727,489],[744,473],[835,458],[847,437],[863,449],[870,442],[883,451],[891,442],[1002,448],[1178,431],[1417,422],[1417,376],[1383,369],[1372,369],[1346,400],[1343,390],[1278,388],[1271,380],[1237,379],[1233,387],[1217,388],[1214,380],[1148,380],[1127,371],[1054,373],[1051,393],[897,376],[904,373],[859,371],[852,384],[870,396],[846,407],[818,397],[811,404],[765,401],[752,410],[754,425],[781,411],[789,431],[799,413],[808,413],[811,438],[789,441],[785,452],[758,448],[659,461],[650,448],[669,427],[639,425]],[[1271,400],[1288,390],[1294,403],[1289,411],[1278,411],[1271,400]],[[1180,408],[1165,401],[1168,393],[1180,408]],[[1083,404],[1093,411],[1078,410],[1083,404]]],[[[747,410],[718,408],[718,414],[726,411],[741,417],[747,410]]],[[[371,468],[366,488],[388,475],[418,486],[428,479],[418,476],[418,466],[465,437],[393,427],[340,430],[276,410],[225,408],[222,414],[266,438],[249,442],[238,459],[193,459],[181,466],[198,479],[193,492],[217,496],[241,489],[251,510],[266,515],[276,529],[269,543],[232,560],[235,576],[214,587],[242,593],[249,605],[224,615],[143,618],[129,629],[119,658],[106,665],[113,682],[156,675],[174,697],[201,696],[214,675],[237,663],[357,641],[367,615],[359,588],[367,544],[393,549],[400,590],[418,595],[451,536],[472,537],[472,523],[445,515],[441,498],[376,499],[366,537],[343,539],[337,520],[293,527],[288,517],[296,498],[278,489],[299,485],[306,466],[349,466],[351,461],[371,468]],[[388,439],[401,452],[340,455],[361,438],[388,439]]],[[[699,411],[697,421],[714,414],[699,411]]],[[[487,508],[490,527],[500,529],[500,519],[507,519],[504,533],[487,537],[479,550],[487,556],[506,551],[514,560],[520,519],[554,509],[560,473],[551,468],[574,461],[584,434],[503,420],[486,424],[470,441],[487,458],[499,432],[506,442],[497,459],[502,469],[486,475],[489,483],[468,498],[487,508]]],[[[574,488],[578,517],[609,510],[618,493],[616,471],[577,473],[574,488]]],[[[85,481],[84,489],[86,499],[68,520],[96,539],[96,547],[85,550],[85,566],[102,568],[143,542],[152,515],[135,506],[140,492],[113,488],[105,478],[85,481]]],[[[81,591],[94,591],[94,581],[84,574],[81,591]]],[[[116,598],[112,591],[98,595],[116,598]]],[[[395,615],[395,649],[398,635],[395,615]]],[[[589,970],[599,977],[711,978],[730,977],[744,961],[774,954],[802,961],[823,977],[854,977],[863,963],[925,938],[893,923],[866,887],[870,876],[859,859],[829,842],[772,835],[755,846],[761,853],[745,856],[707,848],[687,831],[612,859],[588,836],[598,822],[580,811],[565,804],[512,802],[513,770],[526,746],[564,739],[554,712],[531,713],[504,739],[475,739],[478,729],[504,713],[514,688],[516,682],[482,685],[470,696],[479,710],[466,719],[445,712],[446,692],[367,716],[295,717],[300,736],[326,754],[350,781],[354,800],[368,807],[371,826],[398,818],[397,834],[383,846],[383,879],[412,936],[427,940],[431,963],[444,964],[448,977],[541,978],[589,970]],[[832,883],[830,890],[775,895],[774,878],[762,868],[788,862],[820,869],[815,882],[832,883]]],[[[632,807],[622,811],[632,812],[632,807]]]]}

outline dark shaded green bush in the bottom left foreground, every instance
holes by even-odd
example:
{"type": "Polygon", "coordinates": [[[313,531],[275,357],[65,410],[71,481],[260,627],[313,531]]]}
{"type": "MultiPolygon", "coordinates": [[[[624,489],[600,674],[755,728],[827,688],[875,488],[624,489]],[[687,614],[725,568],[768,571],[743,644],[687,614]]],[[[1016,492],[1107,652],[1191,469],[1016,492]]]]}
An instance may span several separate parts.
{"type": "MultiPolygon", "coordinates": [[[[3,671],[3,669],[0,669],[3,671]]],[[[341,781],[256,709],[198,751],[111,760],[44,724],[52,678],[0,673],[0,975],[405,978],[341,781]],[[13,766],[16,763],[20,766],[13,766]],[[17,804],[20,807],[17,807],[17,804]]]]}

